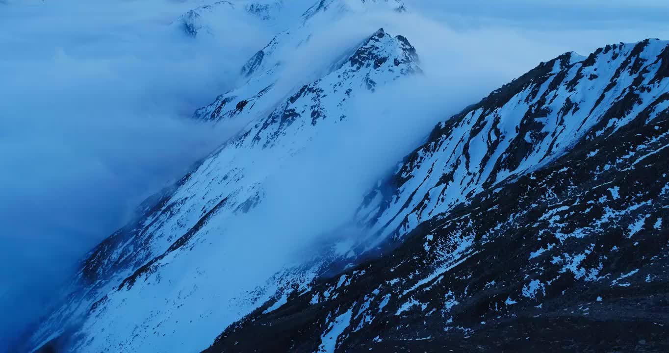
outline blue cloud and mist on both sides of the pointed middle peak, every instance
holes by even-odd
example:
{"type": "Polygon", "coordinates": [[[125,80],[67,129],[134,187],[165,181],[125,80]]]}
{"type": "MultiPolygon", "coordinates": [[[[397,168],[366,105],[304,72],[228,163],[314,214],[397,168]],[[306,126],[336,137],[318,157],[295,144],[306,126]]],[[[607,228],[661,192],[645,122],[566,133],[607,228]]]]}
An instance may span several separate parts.
{"type": "MultiPolygon", "coordinates": [[[[170,24],[201,3],[0,0],[0,340],[39,314],[76,261],[143,198],[233,134],[188,118],[231,88],[240,66],[274,33],[254,17],[221,19],[221,32],[196,38],[170,24]]],[[[329,45],[314,40],[287,63],[285,84],[294,86],[292,77],[314,61],[312,53],[337,55],[334,49],[384,27],[411,41],[425,72],[386,89],[394,104],[379,102],[379,95],[360,98],[356,133],[333,132],[300,160],[300,170],[328,178],[306,178],[318,182],[294,188],[320,193],[290,207],[314,211],[324,205],[318,200],[345,195],[320,210],[324,218],[317,220],[334,225],[343,215],[329,215],[352,210],[359,194],[436,122],[539,62],[606,43],[669,37],[658,17],[667,7],[659,2],[634,9],[623,2],[573,3],[581,9],[577,17],[565,7],[551,11],[550,3],[518,0],[509,6],[522,11],[482,13],[498,5],[470,3],[407,1],[411,14],[343,19],[314,34],[329,45]],[[605,18],[587,21],[587,11],[605,18]],[[622,28],[629,11],[640,15],[622,28]],[[364,172],[342,173],[351,169],[364,172]]]]}

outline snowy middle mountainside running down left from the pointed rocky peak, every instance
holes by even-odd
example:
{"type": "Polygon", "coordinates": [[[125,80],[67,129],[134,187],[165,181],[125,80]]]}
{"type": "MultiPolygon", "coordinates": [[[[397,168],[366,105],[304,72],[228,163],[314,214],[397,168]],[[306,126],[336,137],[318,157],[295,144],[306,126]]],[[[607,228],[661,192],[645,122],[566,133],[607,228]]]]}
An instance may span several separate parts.
{"type": "MultiPolygon", "coordinates": [[[[204,349],[221,328],[264,304],[278,289],[312,281],[318,265],[298,272],[290,268],[299,263],[282,258],[244,265],[258,259],[236,253],[235,244],[242,229],[248,233],[244,214],[262,205],[266,184],[276,182],[272,177],[319,134],[345,123],[353,97],[419,72],[407,39],[383,29],[347,51],[328,65],[322,78],[286,94],[288,98],[261,91],[228,100],[234,114],[248,114],[252,123],[177,185],[147,201],[135,222],[91,253],[66,303],[33,335],[34,347],[66,344],[81,352],[204,349]],[[254,110],[258,106],[264,108],[254,110]],[[231,267],[240,265],[246,267],[244,276],[231,267]],[[294,275],[275,275],[284,267],[294,275]]],[[[237,93],[253,92],[258,81],[273,75],[252,74],[237,93]]],[[[229,112],[219,109],[221,118],[229,112]]],[[[258,247],[272,245],[279,244],[270,240],[258,247]]]]}

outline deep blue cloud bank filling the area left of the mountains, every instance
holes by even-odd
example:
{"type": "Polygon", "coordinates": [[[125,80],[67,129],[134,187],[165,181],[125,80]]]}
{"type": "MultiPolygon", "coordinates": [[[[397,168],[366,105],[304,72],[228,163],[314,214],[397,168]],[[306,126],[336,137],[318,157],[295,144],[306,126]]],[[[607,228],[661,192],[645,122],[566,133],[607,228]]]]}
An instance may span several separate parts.
{"type": "MultiPolygon", "coordinates": [[[[231,132],[189,120],[271,33],[189,37],[181,1],[0,3],[0,338],[231,132]]],[[[0,342],[2,340],[0,339],[0,342]]]]}

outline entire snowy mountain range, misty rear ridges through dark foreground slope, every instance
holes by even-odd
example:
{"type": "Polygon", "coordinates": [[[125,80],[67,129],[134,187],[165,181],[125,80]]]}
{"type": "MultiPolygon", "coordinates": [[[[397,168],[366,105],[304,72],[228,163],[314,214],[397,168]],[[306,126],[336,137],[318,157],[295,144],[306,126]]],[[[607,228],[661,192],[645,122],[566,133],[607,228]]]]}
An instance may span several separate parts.
{"type": "Polygon", "coordinates": [[[240,68],[237,88],[193,116],[239,133],[88,255],[26,347],[669,347],[666,41],[565,53],[444,117],[369,185],[353,219],[337,220],[354,237],[334,236],[347,231],[337,223],[305,238],[319,250],[306,255],[239,253],[241,241],[260,254],[282,247],[279,229],[256,223],[284,225],[258,215],[290,195],[268,193],[322,136],[347,128],[356,98],[421,74],[411,38],[379,29],[286,78],[316,27],[378,6],[405,11],[395,0],[219,1],[172,23],[197,36],[218,11],[244,11],[278,34],[240,68]],[[273,231],[279,239],[240,239],[273,231]]]}

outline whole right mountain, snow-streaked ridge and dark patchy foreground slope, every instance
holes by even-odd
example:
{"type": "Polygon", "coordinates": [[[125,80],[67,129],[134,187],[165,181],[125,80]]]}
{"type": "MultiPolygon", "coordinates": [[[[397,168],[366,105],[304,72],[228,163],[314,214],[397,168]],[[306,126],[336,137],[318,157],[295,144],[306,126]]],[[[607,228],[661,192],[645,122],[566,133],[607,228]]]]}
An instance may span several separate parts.
{"type": "Polygon", "coordinates": [[[387,255],[209,351],[666,351],[668,68],[666,41],[565,53],[439,124],[363,207],[387,255]]]}

